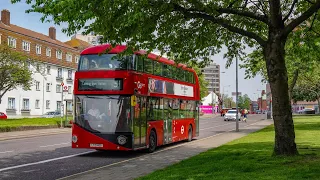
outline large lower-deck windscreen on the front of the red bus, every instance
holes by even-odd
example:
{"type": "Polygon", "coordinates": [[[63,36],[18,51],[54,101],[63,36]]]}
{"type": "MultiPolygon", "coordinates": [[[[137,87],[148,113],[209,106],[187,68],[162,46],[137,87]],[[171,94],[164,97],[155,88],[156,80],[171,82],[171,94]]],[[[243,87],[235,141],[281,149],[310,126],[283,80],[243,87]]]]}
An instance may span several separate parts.
{"type": "Polygon", "coordinates": [[[131,132],[129,96],[76,96],[75,122],[96,133],[131,132]]]}

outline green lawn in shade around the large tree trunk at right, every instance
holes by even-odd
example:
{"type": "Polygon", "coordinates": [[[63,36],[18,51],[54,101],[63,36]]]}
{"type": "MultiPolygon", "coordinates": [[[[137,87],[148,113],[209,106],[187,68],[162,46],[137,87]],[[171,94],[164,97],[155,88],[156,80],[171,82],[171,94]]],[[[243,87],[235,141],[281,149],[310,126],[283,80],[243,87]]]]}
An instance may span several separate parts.
{"type": "Polygon", "coordinates": [[[320,117],[294,121],[299,156],[271,156],[271,125],[139,179],[320,179],[320,117]]]}

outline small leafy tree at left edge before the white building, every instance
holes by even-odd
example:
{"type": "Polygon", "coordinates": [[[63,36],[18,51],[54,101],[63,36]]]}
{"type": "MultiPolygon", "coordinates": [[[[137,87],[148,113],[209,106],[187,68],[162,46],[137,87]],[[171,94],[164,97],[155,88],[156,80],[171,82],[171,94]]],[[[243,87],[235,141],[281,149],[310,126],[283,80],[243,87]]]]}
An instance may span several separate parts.
{"type": "Polygon", "coordinates": [[[2,97],[18,87],[29,90],[32,85],[32,71],[29,69],[27,57],[0,45],[0,103],[2,97]]]}

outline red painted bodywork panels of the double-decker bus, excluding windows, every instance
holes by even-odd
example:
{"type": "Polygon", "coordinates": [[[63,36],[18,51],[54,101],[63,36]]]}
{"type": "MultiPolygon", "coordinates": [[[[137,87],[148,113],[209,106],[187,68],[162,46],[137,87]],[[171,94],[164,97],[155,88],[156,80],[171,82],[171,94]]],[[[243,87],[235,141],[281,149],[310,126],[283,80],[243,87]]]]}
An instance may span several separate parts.
{"type": "MultiPolygon", "coordinates": [[[[87,48],[82,51],[81,56],[83,55],[94,55],[99,53],[104,53],[107,49],[111,48],[110,45],[99,45],[87,48]]],[[[112,48],[108,54],[117,54],[121,53],[126,49],[126,46],[116,46],[112,48]]],[[[136,55],[146,54],[145,51],[135,52],[136,55]]],[[[176,66],[174,61],[168,60],[166,58],[160,57],[155,54],[148,54],[147,57],[154,61],[158,61],[167,65],[176,66]]],[[[81,60],[81,58],[80,58],[81,60]]],[[[79,62],[80,63],[80,62],[79,62]]],[[[131,133],[93,133],[88,131],[87,129],[80,126],[77,121],[75,121],[72,125],[72,148],[91,148],[91,149],[104,149],[104,150],[136,150],[143,149],[149,147],[149,135],[151,131],[156,133],[156,145],[161,146],[164,144],[169,144],[181,140],[188,139],[188,127],[192,127],[192,138],[199,135],[199,112],[197,111],[197,103],[200,100],[200,87],[199,81],[196,72],[193,69],[186,68],[185,65],[179,64],[179,67],[182,69],[189,71],[193,74],[194,83],[182,82],[175,79],[170,79],[166,77],[156,76],[152,74],[137,72],[134,70],[95,70],[95,71],[77,71],[75,73],[75,81],[74,81],[74,96],[79,95],[136,95],[145,97],[148,99],[149,97],[159,97],[159,98],[168,98],[168,99],[183,99],[186,101],[194,101],[196,102],[195,107],[195,118],[179,118],[172,119],[171,127],[171,140],[168,142],[164,140],[164,120],[156,120],[149,121],[146,120],[146,134],[145,134],[145,142],[142,143],[141,146],[134,146],[134,137],[131,137],[133,132],[131,133]],[[79,90],[79,80],[80,79],[103,79],[103,78],[121,78],[123,79],[123,89],[122,90],[90,90],[84,91],[79,90]],[[161,93],[151,93],[148,91],[148,79],[153,78],[157,80],[162,80],[170,83],[178,83],[181,85],[187,85],[193,87],[193,96],[177,96],[170,94],[161,94],[161,93]],[[127,144],[122,145],[119,143],[119,136],[125,136],[127,144]],[[131,138],[131,139],[130,139],[131,138]]],[[[171,100],[169,100],[171,101],[171,100]]],[[[75,103],[74,103],[75,104],[75,103]]],[[[132,107],[132,111],[134,111],[134,107],[132,107]]],[[[146,111],[147,112],[147,111],[146,111]]],[[[76,112],[74,112],[75,114],[76,112]]],[[[133,118],[133,117],[130,117],[133,118]]],[[[134,121],[134,120],[133,120],[134,121]]],[[[170,127],[170,126],[169,126],[170,127]]],[[[141,131],[140,127],[140,131],[141,131]]],[[[141,132],[140,132],[141,135],[141,132]]],[[[143,137],[139,137],[140,142],[144,141],[143,137]],[[142,139],[142,140],[141,140],[142,139]]],[[[169,138],[170,139],[170,138],[169,138]]]]}

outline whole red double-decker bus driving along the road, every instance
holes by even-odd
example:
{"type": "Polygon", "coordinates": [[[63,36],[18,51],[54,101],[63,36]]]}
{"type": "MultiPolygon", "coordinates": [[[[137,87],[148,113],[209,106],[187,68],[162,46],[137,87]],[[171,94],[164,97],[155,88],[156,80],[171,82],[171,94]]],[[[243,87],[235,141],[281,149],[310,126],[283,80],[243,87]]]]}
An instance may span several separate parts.
{"type": "Polygon", "coordinates": [[[117,56],[125,49],[106,44],[81,52],[72,148],[153,152],[157,146],[198,136],[195,71],[145,51],[117,56]]]}

